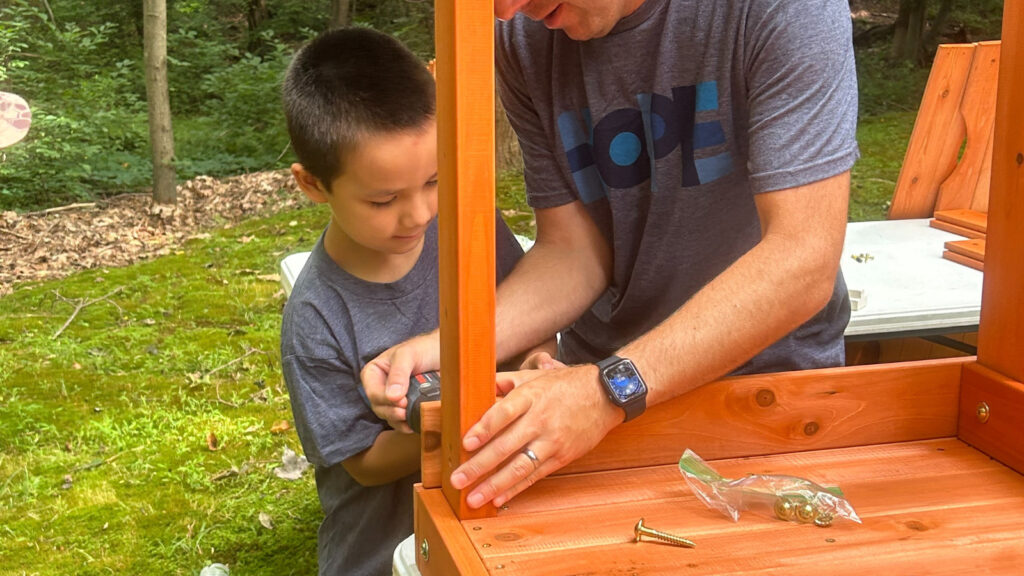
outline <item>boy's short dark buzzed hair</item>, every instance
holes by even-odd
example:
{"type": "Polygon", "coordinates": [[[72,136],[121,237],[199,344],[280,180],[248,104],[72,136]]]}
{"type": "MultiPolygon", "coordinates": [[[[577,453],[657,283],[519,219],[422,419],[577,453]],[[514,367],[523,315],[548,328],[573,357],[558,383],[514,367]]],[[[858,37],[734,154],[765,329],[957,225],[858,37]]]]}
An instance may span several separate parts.
{"type": "Polygon", "coordinates": [[[418,128],[434,116],[434,80],[394,38],[369,28],[325,32],[302,47],[283,88],[292,149],[325,187],[361,136],[418,128]]]}

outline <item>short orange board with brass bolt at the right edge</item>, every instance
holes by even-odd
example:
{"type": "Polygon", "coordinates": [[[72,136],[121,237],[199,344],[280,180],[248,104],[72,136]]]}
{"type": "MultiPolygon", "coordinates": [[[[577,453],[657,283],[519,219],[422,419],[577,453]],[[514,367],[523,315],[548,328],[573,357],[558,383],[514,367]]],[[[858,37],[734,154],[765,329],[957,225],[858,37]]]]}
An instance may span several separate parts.
{"type": "Polygon", "coordinates": [[[979,364],[965,365],[958,436],[1024,474],[1024,384],[979,364]],[[985,403],[988,419],[978,418],[985,403]]]}

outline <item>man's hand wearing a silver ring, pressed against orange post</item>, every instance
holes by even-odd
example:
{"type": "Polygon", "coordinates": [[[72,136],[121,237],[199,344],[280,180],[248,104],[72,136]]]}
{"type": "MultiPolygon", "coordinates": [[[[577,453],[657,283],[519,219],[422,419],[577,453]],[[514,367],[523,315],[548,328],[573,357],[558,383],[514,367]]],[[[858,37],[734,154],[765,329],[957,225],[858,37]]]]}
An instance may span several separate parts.
{"type": "Polygon", "coordinates": [[[514,381],[514,388],[466,433],[463,448],[476,453],[452,474],[457,489],[488,477],[467,498],[474,508],[504,504],[589,452],[625,417],[605,396],[593,365],[503,377],[500,381],[514,381]]]}

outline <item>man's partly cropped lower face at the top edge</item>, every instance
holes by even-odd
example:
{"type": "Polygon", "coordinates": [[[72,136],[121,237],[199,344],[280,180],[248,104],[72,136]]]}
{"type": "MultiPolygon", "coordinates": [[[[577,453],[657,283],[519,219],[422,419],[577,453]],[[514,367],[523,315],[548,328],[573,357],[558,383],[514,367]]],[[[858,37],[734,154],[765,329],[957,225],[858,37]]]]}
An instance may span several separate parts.
{"type": "Polygon", "coordinates": [[[495,0],[495,16],[509,19],[522,12],[561,30],[573,40],[591,40],[608,34],[618,20],[632,14],[644,0],[495,0]]]}

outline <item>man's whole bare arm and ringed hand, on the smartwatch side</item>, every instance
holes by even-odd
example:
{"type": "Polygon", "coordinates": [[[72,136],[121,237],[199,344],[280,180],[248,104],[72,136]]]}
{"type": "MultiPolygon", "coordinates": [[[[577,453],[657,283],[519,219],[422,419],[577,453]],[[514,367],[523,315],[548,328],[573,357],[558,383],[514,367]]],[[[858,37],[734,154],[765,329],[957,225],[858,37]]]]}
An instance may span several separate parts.
{"type": "MultiPolygon", "coordinates": [[[[727,374],[825,305],[843,247],[849,181],[844,172],[756,197],[761,241],[618,352],[644,375],[648,405],[727,374]]],[[[589,452],[624,418],[604,397],[593,365],[524,373],[523,380],[463,439],[476,453],[453,472],[452,484],[465,488],[484,479],[468,497],[471,506],[503,504],[589,452]],[[538,463],[517,455],[527,447],[538,463]]]]}

